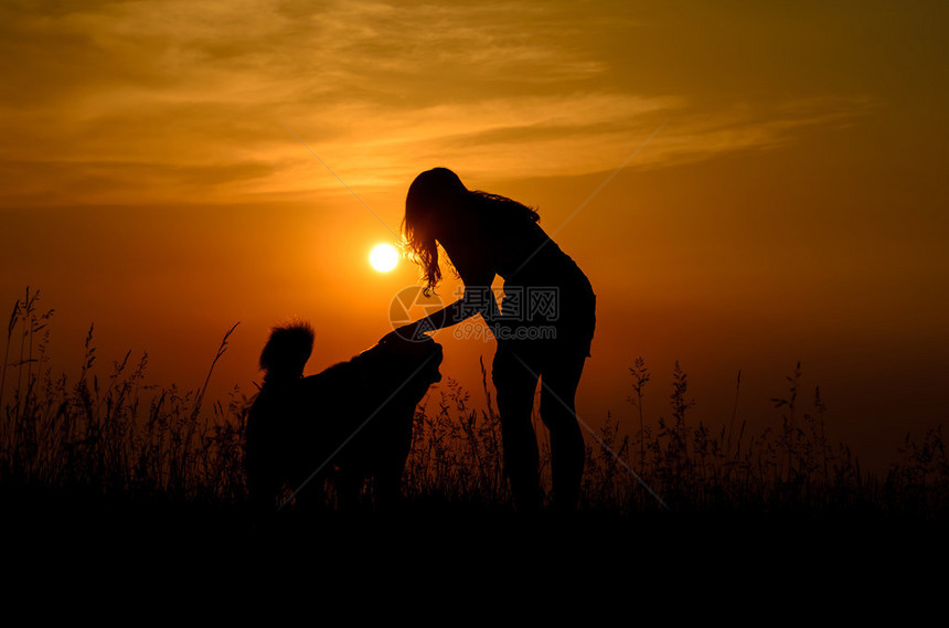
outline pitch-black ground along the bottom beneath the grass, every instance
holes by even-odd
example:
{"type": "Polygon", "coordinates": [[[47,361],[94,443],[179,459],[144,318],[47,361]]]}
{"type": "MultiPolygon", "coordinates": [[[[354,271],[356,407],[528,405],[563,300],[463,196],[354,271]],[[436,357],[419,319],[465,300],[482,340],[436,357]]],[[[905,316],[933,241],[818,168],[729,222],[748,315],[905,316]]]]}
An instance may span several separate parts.
{"type": "MultiPolygon", "coordinates": [[[[399,512],[0,501],[4,608],[109,624],[770,624],[942,613],[945,522],[881,513],[399,512]]],[[[15,617],[15,615],[9,615],[15,617]]]]}

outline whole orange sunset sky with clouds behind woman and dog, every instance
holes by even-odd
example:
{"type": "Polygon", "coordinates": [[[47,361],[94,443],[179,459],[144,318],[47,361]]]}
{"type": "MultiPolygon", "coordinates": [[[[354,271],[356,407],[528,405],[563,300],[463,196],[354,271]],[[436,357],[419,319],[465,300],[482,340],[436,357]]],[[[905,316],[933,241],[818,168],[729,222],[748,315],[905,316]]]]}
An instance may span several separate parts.
{"type": "MultiPolygon", "coordinates": [[[[310,372],[388,331],[418,272],[366,256],[447,166],[537,207],[590,277],[590,424],[631,419],[641,354],[652,418],[680,360],[695,419],[731,415],[740,369],[764,426],[801,360],[832,434],[883,460],[949,407],[947,13],[4,2],[0,306],[40,288],[54,354],[94,321],[105,362],[147,350],[184,387],[239,320],[215,383],[249,393],[279,319],[317,324],[310,372]]],[[[493,345],[437,338],[477,392],[493,345]]]]}

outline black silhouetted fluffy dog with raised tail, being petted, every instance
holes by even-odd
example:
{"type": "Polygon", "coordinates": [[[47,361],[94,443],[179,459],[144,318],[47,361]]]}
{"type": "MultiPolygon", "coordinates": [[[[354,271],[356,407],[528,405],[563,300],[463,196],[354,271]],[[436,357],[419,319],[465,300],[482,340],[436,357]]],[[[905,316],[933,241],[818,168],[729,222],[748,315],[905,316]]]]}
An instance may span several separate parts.
{"type": "Polygon", "coordinates": [[[366,479],[377,504],[397,500],[415,408],[441,380],[441,345],[386,341],[303,377],[312,347],[312,329],[292,323],[274,328],[260,354],[266,374],[246,429],[252,504],[273,511],[288,491],[298,507],[321,504],[327,480],[341,507],[366,479]]]}

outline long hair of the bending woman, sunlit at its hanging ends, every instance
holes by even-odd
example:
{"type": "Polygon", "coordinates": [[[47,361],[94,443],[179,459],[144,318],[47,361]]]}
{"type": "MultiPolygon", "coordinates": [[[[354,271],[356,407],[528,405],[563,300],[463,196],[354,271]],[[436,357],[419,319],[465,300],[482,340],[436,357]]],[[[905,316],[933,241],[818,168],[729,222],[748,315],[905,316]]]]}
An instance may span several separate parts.
{"type": "Polygon", "coordinates": [[[447,168],[426,170],[408,188],[402,221],[407,252],[422,266],[426,296],[435,294],[435,287],[441,280],[437,230],[440,224],[452,220],[452,213],[462,211],[474,212],[482,224],[500,223],[501,230],[522,221],[536,223],[541,220],[537,212],[507,196],[468,190],[461,179],[447,168]]]}

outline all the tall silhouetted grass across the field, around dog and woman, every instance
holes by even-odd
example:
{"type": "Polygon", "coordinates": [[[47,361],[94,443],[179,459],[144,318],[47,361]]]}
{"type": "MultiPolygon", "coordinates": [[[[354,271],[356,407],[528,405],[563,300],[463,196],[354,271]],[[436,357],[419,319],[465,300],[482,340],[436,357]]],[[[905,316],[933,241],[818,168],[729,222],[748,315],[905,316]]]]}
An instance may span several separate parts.
{"type": "MultiPolygon", "coordinates": [[[[28,289],[8,322],[0,370],[0,491],[245,502],[243,437],[253,396],[234,386],[224,402],[205,400],[234,328],[224,334],[199,390],[148,384],[147,354],[132,360],[129,352],[103,372],[92,327],[78,376],[70,381],[50,366],[53,310],[39,302],[39,292],[28,289]]],[[[483,363],[481,375],[477,401],[446,377],[419,405],[403,478],[409,502],[510,503],[500,419],[483,363]]],[[[828,439],[827,404],[820,388],[809,396],[802,390],[800,364],[787,377],[787,394],[771,400],[775,415],[764,417],[768,425],[754,434],[738,414],[740,373],[732,416],[722,425],[695,416],[700,406],[678,363],[665,393],[650,387],[653,374],[642,358],[633,361],[630,376],[633,415],[609,414],[597,430],[589,429],[582,509],[621,515],[873,509],[931,518],[947,512],[949,461],[941,428],[921,441],[907,436],[899,460],[885,473],[863,470],[849,447],[828,439]],[[646,414],[643,400],[651,394],[668,395],[668,414],[646,414]]],[[[584,418],[586,426],[589,417],[584,418]]],[[[548,485],[546,432],[540,417],[534,423],[548,485]]]]}

